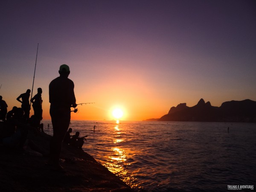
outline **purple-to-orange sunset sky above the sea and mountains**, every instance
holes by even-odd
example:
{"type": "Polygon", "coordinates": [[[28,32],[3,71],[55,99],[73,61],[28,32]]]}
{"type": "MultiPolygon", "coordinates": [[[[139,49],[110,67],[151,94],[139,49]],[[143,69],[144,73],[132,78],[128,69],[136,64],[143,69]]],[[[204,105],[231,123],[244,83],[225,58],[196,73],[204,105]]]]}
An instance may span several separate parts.
{"type": "MultiPolygon", "coordinates": [[[[0,95],[48,86],[70,66],[79,113],[71,119],[160,118],[203,98],[256,101],[255,0],[1,0],[0,95]]],[[[33,114],[33,110],[31,110],[33,114]]]]}

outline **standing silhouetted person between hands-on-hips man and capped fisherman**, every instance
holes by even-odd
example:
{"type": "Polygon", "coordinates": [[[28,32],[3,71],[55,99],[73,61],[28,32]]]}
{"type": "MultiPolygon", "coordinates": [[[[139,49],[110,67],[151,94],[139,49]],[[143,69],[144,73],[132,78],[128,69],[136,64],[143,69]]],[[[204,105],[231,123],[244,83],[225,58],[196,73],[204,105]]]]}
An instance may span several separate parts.
{"type": "Polygon", "coordinates": [[[43,91],[39,87],[38,88],[38,93],[30,100],[32,102],[32,107],[34,110],[34,116],[35,116],[35,121],[38,124],[37,127],[40,125],[40,121],[43,119],[42,117],[42,94],[43,91]]]}

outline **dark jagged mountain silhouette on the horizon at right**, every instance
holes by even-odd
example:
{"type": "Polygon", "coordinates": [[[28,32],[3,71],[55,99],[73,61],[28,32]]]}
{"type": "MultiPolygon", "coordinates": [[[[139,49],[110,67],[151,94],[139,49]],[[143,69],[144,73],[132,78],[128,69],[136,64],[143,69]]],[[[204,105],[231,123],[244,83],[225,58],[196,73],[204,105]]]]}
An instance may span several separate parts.
{"type": "Polygon", "coordinates": [[[229,101],[214,107],[200,99],[193,107],[186,106],[186,103],[172,107],[158,121],[256,122],[256,102],[250,99],[229,101]]]}

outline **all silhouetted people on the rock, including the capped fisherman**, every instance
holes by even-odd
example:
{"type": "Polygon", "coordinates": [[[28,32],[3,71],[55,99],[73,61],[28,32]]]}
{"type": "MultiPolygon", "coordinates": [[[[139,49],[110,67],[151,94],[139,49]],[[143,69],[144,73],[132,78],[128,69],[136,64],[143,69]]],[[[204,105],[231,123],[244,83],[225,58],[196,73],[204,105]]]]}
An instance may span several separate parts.
{"type": "MultiPolygon", "coordinates": [[[[57,171],[62,171],[63,167],[60,165],[59,158],[65,135],[67,137],[65,143],[75,146],[76,148],[82,148],[84,140],[86,140],[85,137],[87,136],[79,137],[80,133],[77,131],[76,134],[71,137],[70,133],[72,129],[71,131],[67,131],[70,125],[70,108],[76,108],[77,106],[74,83],[72,80],[68,79],[70,68],[66,64],[60,66],[58,73],[60,76],[53,79],[49,84],[49,112],[52,119],[53,136],[50,141],[49,160],[46,164],[52,166],[52,168],[57,171]]],[[[29,129],[36,128],[37,131],[43,131],[43,125],[40,124],[43,112],[41,94],[42,89],[38,88],[38,93],[30,100],[34,110],[34,115],[30,118],[29,89],[26,93],[22,93],[17,97],[17,101],[21,102],[21,108],[13,107],[8,113],[8,105],[3,101],[2,96],[0,96],[0,119],[6,122],[3,123],[6,124],[6,128],[1,128],[0,130],[1,143],[10,144],[15,141],[12,144],[22,148],[29,129]]]]}

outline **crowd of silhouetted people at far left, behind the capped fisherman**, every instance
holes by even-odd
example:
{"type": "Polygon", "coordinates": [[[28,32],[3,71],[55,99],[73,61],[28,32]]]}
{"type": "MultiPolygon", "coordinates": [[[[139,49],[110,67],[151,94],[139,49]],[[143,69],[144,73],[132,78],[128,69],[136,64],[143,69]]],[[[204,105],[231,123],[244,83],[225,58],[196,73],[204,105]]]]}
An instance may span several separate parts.
{"type": "Polygon", "coordinates": [[[42,89],[38,88],[38,93],[31,99],[35,113],[31,118],[29,118],[29,89],[17,97],[17,101],[21,102],[21,108],[14,106],[8,113],[8,105],[0,96],[0,120],[3,121],[0,125],[0,143],[22,151],[29,130],[43,132],[44,125],[40,124],[42,120],[41,93],[42,89]]]}

